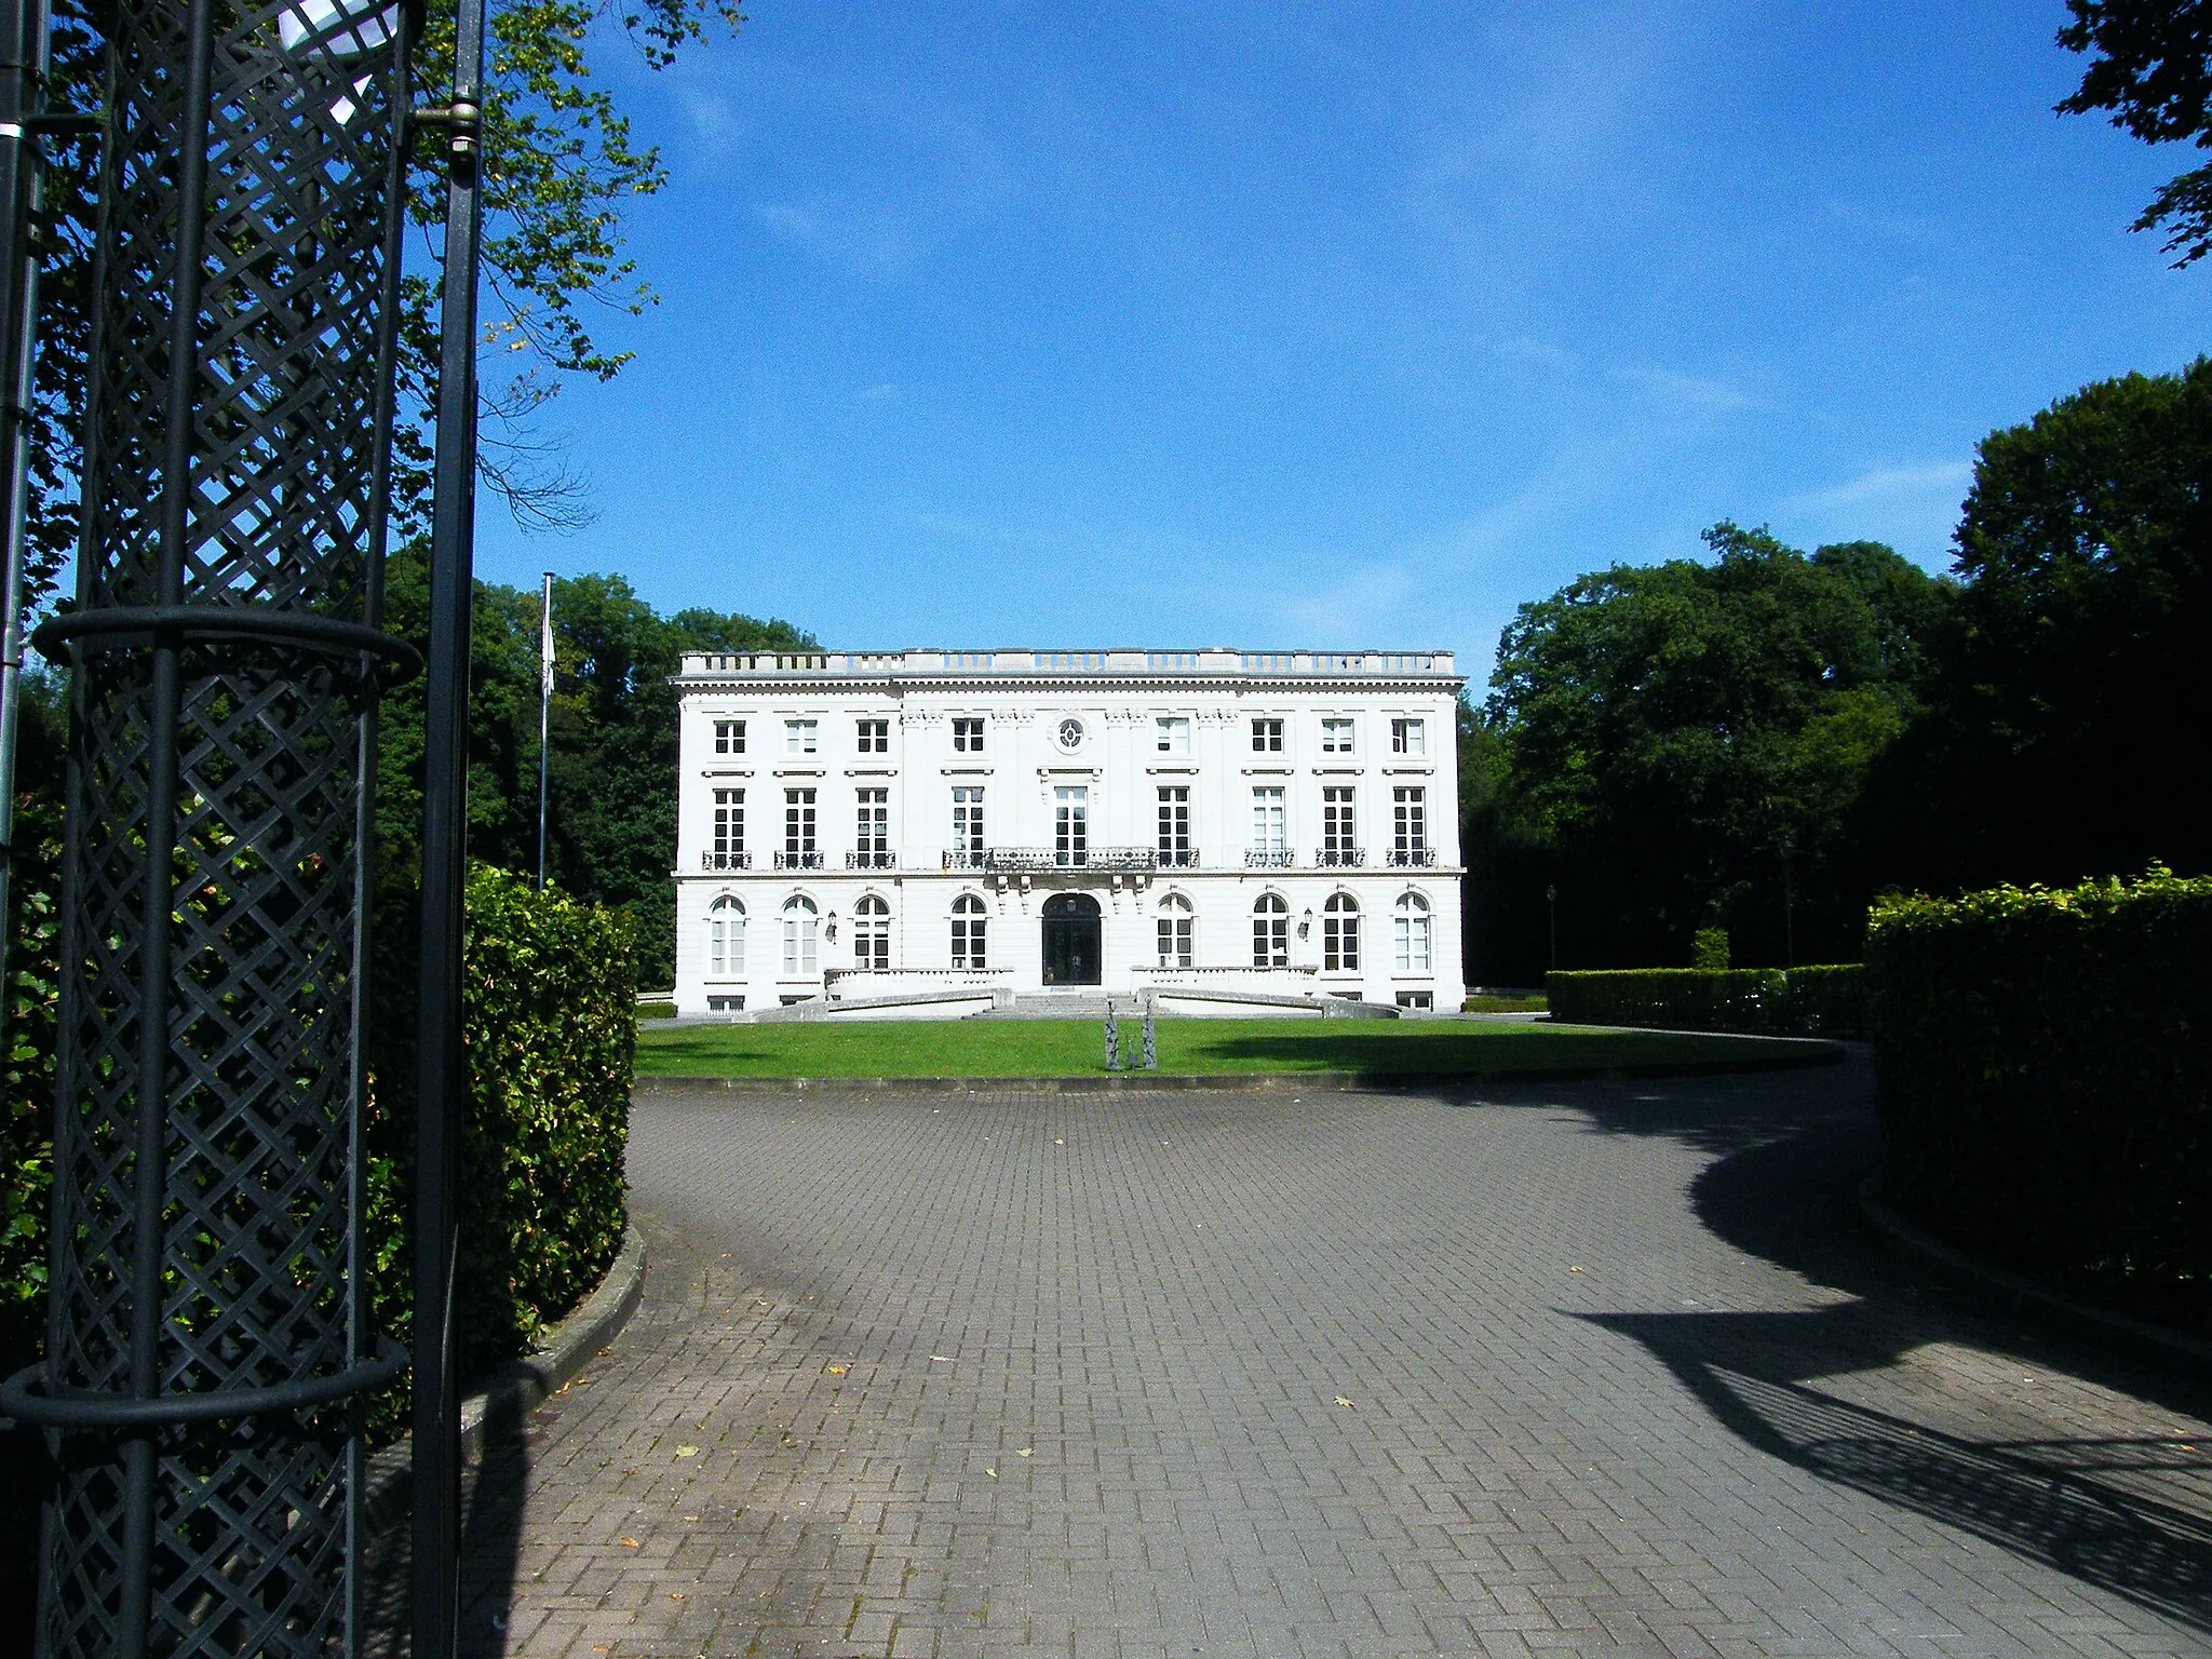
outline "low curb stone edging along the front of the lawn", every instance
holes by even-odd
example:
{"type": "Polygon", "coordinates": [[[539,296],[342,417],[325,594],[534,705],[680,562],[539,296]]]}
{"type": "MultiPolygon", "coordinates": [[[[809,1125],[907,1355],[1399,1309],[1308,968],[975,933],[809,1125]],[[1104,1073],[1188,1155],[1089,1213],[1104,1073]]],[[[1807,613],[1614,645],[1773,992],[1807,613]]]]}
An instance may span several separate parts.
{"type": "MultiPolygon", "coordinates": [[[[1781,1042],[1781,1040],[1778,1040],[1781,1042]]],[[[1582,1084],[1593,1079],[1641,1079],[1641,1077],[1725,1077],[1752,1071],[1803,1071],[1805,1066],[1836,1066],[1845,1060],[1845,1048],[1832,1042],[1807,1042],[1805,1053],[1772,1055],[1767,1060],[1714,1060],[1703,1064],[1663,1066],[1524,1066],[1500,1071],[1449,1071],[1449,1073],[1360,1073],[1360,1071],[1225,1071],[1225,1073],[1172,1073],[1130,1071],[1108,1075],[1075,1077],[635,1077],[630,1097],[653,1095],[854,1095],[874,1091],[909,1091],[927,1095],[958,1093],[1006,1093],[1024,1091],[1037,1095],[1113,1095],[1146,1088],[1188,1088],[1219,1093],[1259,1091],[1369,1091],[1394,1093],[1400,1088],[1453,1088],[1460,1084],[1582,1084]]]]}

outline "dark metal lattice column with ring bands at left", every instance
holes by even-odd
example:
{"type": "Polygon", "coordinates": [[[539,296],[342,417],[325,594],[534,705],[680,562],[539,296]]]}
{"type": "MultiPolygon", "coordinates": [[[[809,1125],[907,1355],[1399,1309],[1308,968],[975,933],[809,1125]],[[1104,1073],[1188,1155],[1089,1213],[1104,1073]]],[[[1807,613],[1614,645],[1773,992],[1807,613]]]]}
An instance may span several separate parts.
{"type": "Polygon", "coordinates": [[[409,15],[108,13],[40,1646],[352,1646],[365,852],[409,15]]]}

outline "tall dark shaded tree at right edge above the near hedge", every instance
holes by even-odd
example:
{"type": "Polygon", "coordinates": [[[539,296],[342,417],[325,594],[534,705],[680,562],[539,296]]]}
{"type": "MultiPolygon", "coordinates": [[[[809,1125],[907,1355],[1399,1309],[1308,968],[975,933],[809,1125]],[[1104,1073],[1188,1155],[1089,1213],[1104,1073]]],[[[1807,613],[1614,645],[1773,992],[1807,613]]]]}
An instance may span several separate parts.
{"type": "Polygon", "coordinates": [[[1982,440],[1927,714],[1869,807],[1902,887],[2212,869],[2212,361],[1982,440]]]}

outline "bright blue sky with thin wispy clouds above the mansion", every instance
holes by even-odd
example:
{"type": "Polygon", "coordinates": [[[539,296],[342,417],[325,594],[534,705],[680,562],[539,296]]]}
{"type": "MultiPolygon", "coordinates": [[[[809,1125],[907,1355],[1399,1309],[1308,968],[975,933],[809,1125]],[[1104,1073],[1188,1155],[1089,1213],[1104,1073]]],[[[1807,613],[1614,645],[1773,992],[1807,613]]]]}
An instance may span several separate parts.
{"type": "Polygon", "coordinates": [[[1449,646],[1721,518],[1942,568],[1973,445],[2205,347],[2188,166],[2022,4],[752,0],[604,62],[661,292],[571,385],[622,571],[834,646],[1449,646]]]}

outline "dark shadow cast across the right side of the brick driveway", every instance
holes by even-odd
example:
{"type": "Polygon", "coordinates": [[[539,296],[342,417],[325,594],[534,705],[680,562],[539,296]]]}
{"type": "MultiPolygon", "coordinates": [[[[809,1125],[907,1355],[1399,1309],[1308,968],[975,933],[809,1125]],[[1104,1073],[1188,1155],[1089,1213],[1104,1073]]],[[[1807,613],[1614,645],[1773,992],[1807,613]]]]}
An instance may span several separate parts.
{"type": "Polygon", "coordinates": [[[1548,1095],[1544,1104],[1573,1106],[1595,1133],[1668,1135],[1712,1152],[1690,1188],[1699,1221],[1745,1254],[1851,1296],[1801,1312],[1579,1318],[1632,1336],[1717,1422],[1783,1462],[2212,1630],[2212,1455],[2194,1442],[1964,1440],[1818,1387],[1958,1343],[2185,1416],[2212,1405],[2212,1389],[2192,1378],[1922,1283],[1858,1210],[1876,1157],[1869,1093],[1867,1066],[1854,1060],[1829,1073],[1548,1095]]]}

